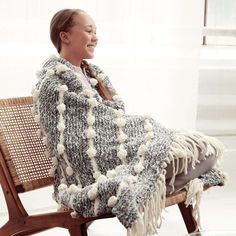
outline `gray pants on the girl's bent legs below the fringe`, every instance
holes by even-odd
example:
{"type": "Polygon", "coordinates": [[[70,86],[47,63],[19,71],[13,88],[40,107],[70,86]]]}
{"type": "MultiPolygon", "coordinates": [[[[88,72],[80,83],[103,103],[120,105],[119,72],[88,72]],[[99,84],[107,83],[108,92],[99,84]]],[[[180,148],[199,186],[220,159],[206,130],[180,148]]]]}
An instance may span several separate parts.
{"type": "MultiPolygon", "coordinates": [[[[181,173],[180,170],[182,169],[183,162],[180,160],[179,165],[175,163],[175,169],[178,168],[177,174],[175,176],[174,182],[174,191],[178,191],[183,188],[190,180],[199,177],[200,175],[204,174],[208,170],[212,168],[214,165],[216,158],[213,155],[210,155],[205,158],[205,156],[199,155],[200,163],[196,164],[195,169],[192,168],[191,165],[188,166],[188,173],[184,174],[181,173]]],[[[170,163],[166,167],[166,194],[170,194],[172,191],[172,187],[169,185],[171,177],[173,175],[173,163],[170,163]]]]}

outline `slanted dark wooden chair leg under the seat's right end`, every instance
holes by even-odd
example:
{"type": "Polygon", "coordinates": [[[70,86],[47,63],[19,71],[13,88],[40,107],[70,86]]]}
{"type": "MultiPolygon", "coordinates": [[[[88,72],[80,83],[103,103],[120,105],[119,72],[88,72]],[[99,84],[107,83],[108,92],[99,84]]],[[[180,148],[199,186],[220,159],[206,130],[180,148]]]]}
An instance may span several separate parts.
{"type": "MultiPolygon", "coordinates": [[[[179,206],[179,210],[183,217],[188,233],[194,232],[197,228],[197,222],[195,221],[192,215],[192,212],[193,212],[192,205],[189,205],[188,207],[186,207],[185,203],[181,202],[178,204],[178,206],[179,206]]],[[[197,232],[199,231],[197,230],[197,232]]]]}

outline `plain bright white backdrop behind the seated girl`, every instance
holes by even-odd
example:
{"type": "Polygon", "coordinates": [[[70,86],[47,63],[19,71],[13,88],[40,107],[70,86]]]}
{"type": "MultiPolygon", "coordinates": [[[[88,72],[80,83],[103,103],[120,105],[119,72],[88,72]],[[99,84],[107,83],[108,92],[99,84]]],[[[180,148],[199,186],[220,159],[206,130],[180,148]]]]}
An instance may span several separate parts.
{"type": "MultiPolygon", "coordinates": [[[[127,112],[195,127],[203,0],[0,0],[1,98],[30,95],[35,71],[55,53],[48,28],[61,8],[85,9],[97,22],[93,61],[110,75],[127,112]]],[[[52,204],[43,192],[23,200],[38,208],[39,198],[52,204]]]]}

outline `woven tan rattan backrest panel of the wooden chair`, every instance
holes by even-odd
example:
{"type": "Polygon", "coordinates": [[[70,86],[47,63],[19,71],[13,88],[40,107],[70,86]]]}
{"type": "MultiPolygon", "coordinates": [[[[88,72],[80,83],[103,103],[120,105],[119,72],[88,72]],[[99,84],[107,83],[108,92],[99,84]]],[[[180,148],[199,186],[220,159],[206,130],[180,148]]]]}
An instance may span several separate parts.
{"type": "Polygon", "coordinates": [[[23,187],[20,191],[51,181],[48,170],[52,163],[45,156],[46,147],[37,135],[39,126],[31,108],[31,97],[0,100],[1,149],[15,185],[23,187]]]}

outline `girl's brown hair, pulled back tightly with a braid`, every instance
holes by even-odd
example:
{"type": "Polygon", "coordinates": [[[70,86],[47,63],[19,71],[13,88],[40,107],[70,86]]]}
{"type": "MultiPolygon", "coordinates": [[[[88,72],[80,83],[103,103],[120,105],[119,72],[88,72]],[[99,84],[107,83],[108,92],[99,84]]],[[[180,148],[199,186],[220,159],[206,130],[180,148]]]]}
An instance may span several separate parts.
{"type": "MultiPolygon", "coordinates": [[[[81,9],[62,9],[53,16],[50,23],[50,38],[58,53],[61,51],[60,32],[68,32],[74,26],[75,15],[81,12],[84,11],[81,9]]],[[[81,67],[85,69],[88,76],[95,78],[93,70],[85,60],[82,61],[81,67]]]]}

